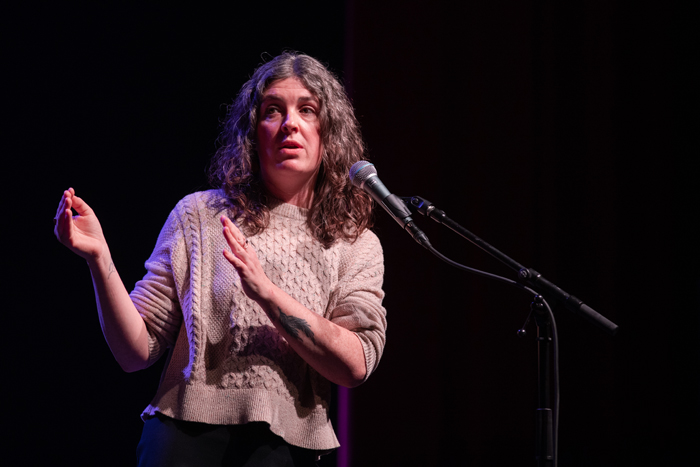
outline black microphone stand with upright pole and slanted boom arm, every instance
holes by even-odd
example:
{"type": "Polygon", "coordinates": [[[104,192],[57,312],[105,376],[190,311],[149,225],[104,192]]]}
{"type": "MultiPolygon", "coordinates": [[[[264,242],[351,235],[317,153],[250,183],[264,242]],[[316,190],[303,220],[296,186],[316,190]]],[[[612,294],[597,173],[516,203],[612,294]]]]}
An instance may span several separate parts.
{"type": "Polygon", "coordinates": [[[552,314],[549,305],[544,300],[540,294],[549,294],[556,299],[560,300],[569,310],[583,317],[587,321],[591,322],[595,326],[603,329],[610,335],[614,335],[617,332],[618,326],[612,321],[608,320],[589,306],[585,305],[581,300],[570,295],[554,285],[552,282],[548,281],[542,275],[532,268],[526,268],[520,263],[514,261],[512,258],[508,257],[501,251],[492,247],[481,238],[477,237],[457,222],[453,221],[445,215],[445,213],[439,209],[436,209],[432,203],[428,200],[421,198],[419,196],[413,197],[403,197],[404,203],[413,212],[419,212],[425,216],[430,217],[434,221],[448,227],[460,236],[469,240],[471,243],[481,248],[494,258],[498,259],[506,266],[517,271],[518,282],[514,283],[505,278],[499,276],[494,276],[488,273],[483,273],[482,271],[473,270],[465,266],[459,265],[448,258],[441,255],[439,252],[434,250],[432,246],[428,243],[424,245],[431,252],[436,254],[444,261],[452,264],[453,266],[459,267],[460,269],[468,270],[470,272],[476,272],[480,275],[487,277],[497,278],[498,280],[512,283],[512,285],[527,284],[532,289],[526,286],[522,288],[526,290],[537,291],[534,301],[531,304],[530,315],[527,317],[525,324],[518,331],[520,337],[524,337],[526,334],[525,326],[530,320],[530,316],[535,317],[535,324],[537,326],[537,354],[538,354],[538,366],[537,366],[537,387],[538,387],[538,408],[537,408],[537,418],[536,418],[536,459],[537,465],[540,467],[556,467],[557,464],[557,445],[558,445],[558,427],[559,427],[559,383],[558,383],[558,337],[556,331],[556,322],[554,320],[554,315],[552,314]],[[518,284],[520,283],[520,284],[518,284]],[[552,345],[554,345],[554,354],[552,355],[552,345]],[[553,413],[551,408],[551,394],[550,387],[551,383],[551,372],[550,372],[550,361],[554,357],[554,371],[555,371],[555,412],[554,417],[556,423],[553,422],[553,413]]]}

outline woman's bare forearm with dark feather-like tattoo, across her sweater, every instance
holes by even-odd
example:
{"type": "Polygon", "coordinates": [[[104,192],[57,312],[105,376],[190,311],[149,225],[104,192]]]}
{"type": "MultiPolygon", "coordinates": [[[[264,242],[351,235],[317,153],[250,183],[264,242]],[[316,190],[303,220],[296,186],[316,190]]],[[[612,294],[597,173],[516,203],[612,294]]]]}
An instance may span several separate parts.
{"type": "Polygon", "coordinates": [[[364,381],[364,350],[355,333],[307,309],[272,283],[258,304],[297,354],[326,379],[345,387],[364,381]]]}

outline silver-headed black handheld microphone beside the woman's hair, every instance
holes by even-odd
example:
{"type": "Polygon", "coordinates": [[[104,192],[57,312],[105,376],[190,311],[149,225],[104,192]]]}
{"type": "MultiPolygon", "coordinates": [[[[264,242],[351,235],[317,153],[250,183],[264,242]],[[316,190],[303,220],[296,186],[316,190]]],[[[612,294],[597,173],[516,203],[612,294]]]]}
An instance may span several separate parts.
{"type": "Polygon", "coordinates": [[[365,190],[411,237],[425,248],[430,247],[428,237],[413,223],[411,211],[398,196],[392,194],[379,180],[374,164],[355,162],[350,168],[350,180],[356,187],[365,190]]]}

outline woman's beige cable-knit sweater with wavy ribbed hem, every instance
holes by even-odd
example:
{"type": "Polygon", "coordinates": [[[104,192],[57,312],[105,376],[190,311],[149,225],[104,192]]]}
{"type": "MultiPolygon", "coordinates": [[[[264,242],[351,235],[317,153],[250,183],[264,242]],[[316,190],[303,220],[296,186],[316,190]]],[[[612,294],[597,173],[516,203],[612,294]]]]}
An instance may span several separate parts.
{"type": "MultiPolygon", "coordinates": [[[[231,425],[267,422],[307,449],[339,446],[329,418],[331,383],[308,365],[249,299],[222,252],[223,194],[182,199],[170,213],[147,273],[131,298],[149,333],[149,365],[169,352],[158,391],[142,414],[231,425]]],[[[367,376],[385,343],[384,263],[371,231],[324,248],[307,210],[281,202],[267,228],[248,236],[267,277],[312,312],[358,337],[367,376]]],[[[243,229],[244,234],[246,233],[243,229]]]]}

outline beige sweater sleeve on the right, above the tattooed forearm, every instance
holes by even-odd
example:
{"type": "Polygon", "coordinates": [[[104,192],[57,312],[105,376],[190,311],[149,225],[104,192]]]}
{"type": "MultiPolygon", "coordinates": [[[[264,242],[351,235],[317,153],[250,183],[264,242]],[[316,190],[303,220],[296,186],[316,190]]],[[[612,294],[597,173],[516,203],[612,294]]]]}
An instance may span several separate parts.
{"type": "Polygon", "coordinates": [[[365,353],[367,374],[377,368],[386,342],[384,255],[377,236],[364,232],[341,256],[337,302],[330,320],[357,335],[365,353]]]}

